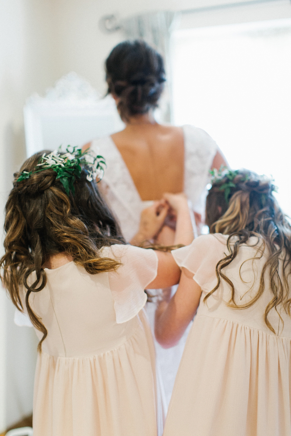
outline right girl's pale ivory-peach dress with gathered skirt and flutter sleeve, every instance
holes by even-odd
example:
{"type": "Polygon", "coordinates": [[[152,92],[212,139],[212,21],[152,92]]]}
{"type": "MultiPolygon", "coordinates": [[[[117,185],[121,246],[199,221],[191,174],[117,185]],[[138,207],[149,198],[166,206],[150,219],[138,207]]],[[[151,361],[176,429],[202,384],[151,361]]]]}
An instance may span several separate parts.
{"type": "MultiPolygon", "coordinates": [[[[224,281],[203,302],[216,286],[215,268],[228,253],[226,240],[226,235],[202,235],[172,252],[178,265],[193,273],[202,295],[163,435],[290,436],[291,319],[278,307],[284,326],[274,308],[268,320],[276,334],[264,322],[265,308],[273,297],[268,271],[263,295],[247,309],[227,306],[231,291],[224,281]]],[[[251,246],[256,242],[252,237],[248,245],[241,245],[236,258],[223,269],[233,282],[237,304],[249,302],[258,290],[266,253],[253,264],[248,260],[256,255],[260,242],[251,246]]]]}

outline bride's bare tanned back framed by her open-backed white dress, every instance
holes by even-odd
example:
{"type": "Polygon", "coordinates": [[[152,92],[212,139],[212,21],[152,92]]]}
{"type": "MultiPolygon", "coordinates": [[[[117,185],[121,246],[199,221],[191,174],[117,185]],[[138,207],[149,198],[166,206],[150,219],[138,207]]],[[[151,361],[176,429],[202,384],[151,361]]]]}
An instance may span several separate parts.
{"type": "Polygon", "coordinates": [[[142,200],[184,188],[184,132],[160,124],[127,126],[111,135],[142,200]]]}

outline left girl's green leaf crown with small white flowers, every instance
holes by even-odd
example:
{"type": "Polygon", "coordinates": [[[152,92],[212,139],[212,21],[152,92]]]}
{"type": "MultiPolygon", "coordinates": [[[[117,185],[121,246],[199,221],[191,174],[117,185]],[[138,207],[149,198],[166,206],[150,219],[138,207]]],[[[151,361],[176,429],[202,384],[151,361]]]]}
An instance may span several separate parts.
{"type": "Polygon", "coordinates": [[[31,174],[39,173],[40,171],[51,168],[57,173],[56,180],[59,179],[65,188],[66,194],[69,195],[70,191],[75,194],[74,182],[77,178],[81,177],[82,167],[86,165],[88,171],[87,180],[99,178],[99,181],[104,175],[104,166],[106,162],[103,156],[95,155],[95,153],[88,149],[82,153],[82,150],[77,147],[67,146],[66,153],[58,151],[52,151],[47,154],[44,153],[37,164],[37,167],[41,167],[36,171],[23,171],[17,179],[17,182],[29,179],[31,174]]]}

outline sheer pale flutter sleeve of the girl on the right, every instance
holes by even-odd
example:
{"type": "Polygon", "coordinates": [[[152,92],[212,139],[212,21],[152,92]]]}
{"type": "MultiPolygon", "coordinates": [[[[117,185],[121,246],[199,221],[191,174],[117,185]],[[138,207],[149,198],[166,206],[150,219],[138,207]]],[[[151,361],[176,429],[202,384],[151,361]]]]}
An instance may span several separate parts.
{"type": "Polygon", "coordinates": [[[193,279],[204,289],[206,284],[216,278],[215,268],[226,251],[224,235],[201,235],[186,247],[171,253],[180,268],[193,273],[193,279]]]}

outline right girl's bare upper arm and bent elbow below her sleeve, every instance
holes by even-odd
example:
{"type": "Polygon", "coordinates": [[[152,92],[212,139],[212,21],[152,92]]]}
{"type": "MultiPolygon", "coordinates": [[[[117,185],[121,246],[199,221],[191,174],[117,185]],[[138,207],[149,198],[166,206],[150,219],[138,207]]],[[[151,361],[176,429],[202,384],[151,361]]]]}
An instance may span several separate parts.
{"type": "Polygon", "coordinates": [[[183,268],[177,292],[171,300],[161,301],[155,313],[154,334],[162,347],[178,343],[196,313],[201,293],[193,273],[183,268]]]}

